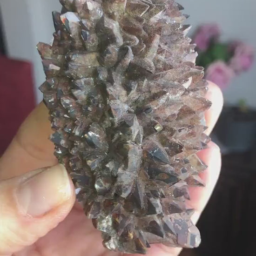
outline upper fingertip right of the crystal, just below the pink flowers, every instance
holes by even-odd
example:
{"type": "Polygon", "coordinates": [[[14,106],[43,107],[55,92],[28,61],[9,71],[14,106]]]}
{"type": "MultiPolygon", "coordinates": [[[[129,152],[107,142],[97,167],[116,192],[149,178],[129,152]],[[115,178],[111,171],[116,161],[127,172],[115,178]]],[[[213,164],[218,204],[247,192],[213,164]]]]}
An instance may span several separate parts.
{"type": "Polygon", "coordinates": [[[209,81],[209,90],[205,97],[212,102],[211,108],[205,112],[206,126],[208,126],[205,133],[209,135],[221,114],[223,95],[221,89],[216,84],[209,81]]]}

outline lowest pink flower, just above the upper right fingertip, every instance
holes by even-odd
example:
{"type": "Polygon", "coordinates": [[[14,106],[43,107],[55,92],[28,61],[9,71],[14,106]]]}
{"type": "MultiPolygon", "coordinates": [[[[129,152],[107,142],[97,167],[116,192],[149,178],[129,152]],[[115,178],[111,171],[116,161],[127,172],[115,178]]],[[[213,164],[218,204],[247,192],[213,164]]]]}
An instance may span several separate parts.
{"type": "Polygon", "coordinates": [[[233,69],[223,61],[213,62],[205,72],[206,79],[216,83],[221,89],[226,88],[234,76],[233,69]]]}

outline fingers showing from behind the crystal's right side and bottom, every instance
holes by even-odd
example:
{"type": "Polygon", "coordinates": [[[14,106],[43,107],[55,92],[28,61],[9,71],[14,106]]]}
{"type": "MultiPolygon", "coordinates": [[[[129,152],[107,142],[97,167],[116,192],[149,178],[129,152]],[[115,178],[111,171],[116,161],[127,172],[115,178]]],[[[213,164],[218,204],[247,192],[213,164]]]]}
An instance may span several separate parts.
{"type": "MultiPolygon", "coordinates": [[[[212,106],[205,113],[205,120],[208,129],[206,134],[209,135],[213,130],[223,107],[222,91],[216,84],[209,82],[209,90],[206,98],[212,102],[212,106]]],[[[188,208],[195,209],[192,221],[196,223],[202,214],[209,198],[214,190],[221,170],[221,153],[219,147],[214,142],[209,142],[209,148],[198,153],[200,159],[208,165],[207,170],[200,176],[205,182],[205,187],[189,188],[191,201],[188,202],[188,208]]],[[[155,244],[148,250],[147,256],[178,256],[182,249],[170,248],[162,244],[155,244]]]]}

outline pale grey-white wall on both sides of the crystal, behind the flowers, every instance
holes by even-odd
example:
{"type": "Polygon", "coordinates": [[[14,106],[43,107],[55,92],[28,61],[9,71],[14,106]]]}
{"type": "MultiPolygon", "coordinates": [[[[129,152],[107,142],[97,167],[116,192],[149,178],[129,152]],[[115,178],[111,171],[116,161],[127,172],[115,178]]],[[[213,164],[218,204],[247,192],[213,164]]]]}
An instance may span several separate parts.
{"type": "MultiPolygon", "coordinates": [[[[256,48],[255,0],[178,0],[190,14],[188,22],[195,28],[203,22],[221,25],[223,40],[242,39],[256,48]]],[[[44,81],[38,41],[48,42],[54,31],[51,11],[60,10],[59,0],[0,0],[10,56],[34,63],[35,86],[44,81]]],[[[227,103],[235,104],[245,98],[256,108],[256,65],[250,72],[237,77],[224,92],[227,103]]],[[[38,101],[41,94],[38,92],[38,101]]]]}

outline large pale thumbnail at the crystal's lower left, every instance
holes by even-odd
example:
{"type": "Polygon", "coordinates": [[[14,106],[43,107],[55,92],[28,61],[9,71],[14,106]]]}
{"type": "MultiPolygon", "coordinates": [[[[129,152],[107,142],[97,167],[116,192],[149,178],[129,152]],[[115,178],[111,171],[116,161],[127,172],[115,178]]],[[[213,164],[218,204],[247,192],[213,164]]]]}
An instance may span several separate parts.
{"type": "Polygon", "coordinates": [[[35,171],[16,190],[20,211],[32,217],[45,215],[70,197],[71,184],[61,164],[35,171]]]}

